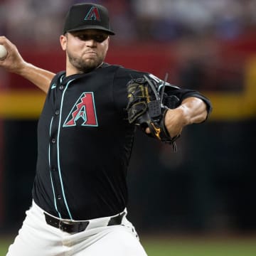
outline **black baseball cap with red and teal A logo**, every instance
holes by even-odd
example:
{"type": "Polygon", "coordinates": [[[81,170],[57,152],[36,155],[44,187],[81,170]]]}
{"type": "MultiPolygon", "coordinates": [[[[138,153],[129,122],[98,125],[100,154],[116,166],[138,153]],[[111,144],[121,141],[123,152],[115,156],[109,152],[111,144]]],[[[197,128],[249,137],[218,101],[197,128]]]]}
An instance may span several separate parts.
{"type": "Polygon", "coordinates": [[[74,4],[70,7],[67,16],[63,34],[72,31],[81,31],[85,29],[99,29],[114,35],[110,29],[110,18],[107,8],[100,4],[74,4]]]}

